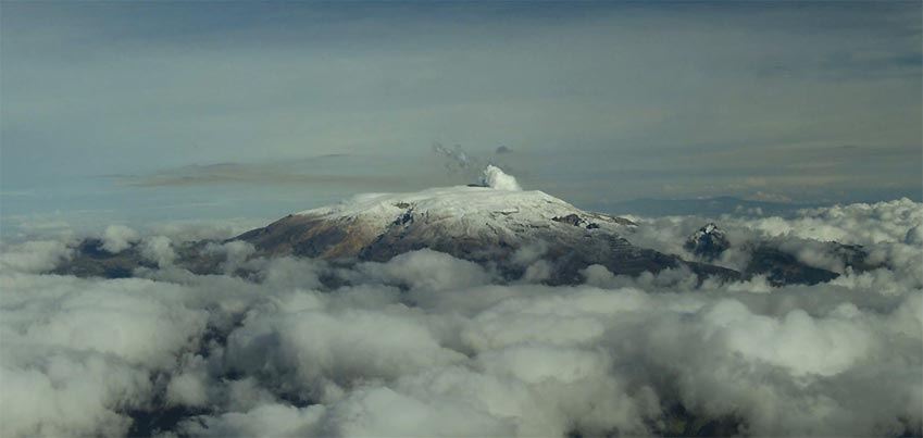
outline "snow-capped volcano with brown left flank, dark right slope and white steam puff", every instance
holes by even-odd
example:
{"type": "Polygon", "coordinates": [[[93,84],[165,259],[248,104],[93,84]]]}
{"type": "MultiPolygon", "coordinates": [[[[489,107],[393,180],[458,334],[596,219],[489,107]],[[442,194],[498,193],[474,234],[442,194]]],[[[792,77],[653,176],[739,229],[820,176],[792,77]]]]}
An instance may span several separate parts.
{"type": "Polygon", "coordinates": [[[581,281],[581,271],[593,264],[616,274],[681,265],[703,274],[736,274],[637,248],[622,237],[635,226],[631,221],[586,212],[542,191],[521,190],[515,178],[498,167],[488,166],[484,183],[488,187],[359,195],[286,216],[237,239],[252,243],[262,255],[339,260],[387,261],[428,248],[495,266],[513,278],[540,258],[552,264],[551,283],[581,281]]]}

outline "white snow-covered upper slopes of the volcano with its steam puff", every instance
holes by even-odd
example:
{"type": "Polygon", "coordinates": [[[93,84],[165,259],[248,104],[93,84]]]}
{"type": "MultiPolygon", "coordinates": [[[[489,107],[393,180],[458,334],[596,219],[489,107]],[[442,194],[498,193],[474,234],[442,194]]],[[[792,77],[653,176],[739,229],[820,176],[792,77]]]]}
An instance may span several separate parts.
{"type": "Polygon", "coordinates": [[[618,235],[631,224],[582,211],[542,191],[524,191],[515,177],[494,165],[484,170],[481,183],[411,193],[358,195],[296,217],[348,229],[353,250],[383,239],[416,239],[423,246],[445,238],[478,241],[482,247],[512,245],[534,240],[537,230],[552,228],[566,235],[590,230],[618,235]]]}

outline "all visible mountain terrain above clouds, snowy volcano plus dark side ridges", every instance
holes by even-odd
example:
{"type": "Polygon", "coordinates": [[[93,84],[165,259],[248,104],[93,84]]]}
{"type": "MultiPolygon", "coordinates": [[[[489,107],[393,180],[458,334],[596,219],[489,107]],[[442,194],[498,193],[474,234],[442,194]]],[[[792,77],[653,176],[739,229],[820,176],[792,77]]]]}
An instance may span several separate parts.
{"type": "MultiPolygon", "coordinates": [[[[739,280],[769,273],[774,285],[814,284],[838,275],[807,268],[781,252],[763,251],[757,268],[738,272],[712,264],[724,245],[696,260],[641,248],[625,237],[637,227],[631,220],[584,211],[539,190],[521,190],[513,177],[490,167],[481,185],[357,195],[223,241],[185,242],[176,246],[173,264],[196,274],[222,273],[227,255],[216,253],[214,245],[242,242],[252,246],[246,255],[250,259],[316,258],[345,264],[387,262],[429,249],[489,267],[509,281],[531,272],[531,280],[549,285],[581,284],[584,270],[591,265],[628,276],[688,270],[699,281],[708,277],[739,280]]],[[[710,224],[706,230],[718,228],[710,224]]],[[[102,248],[102,241],[86,239],[76,247],[76,256],[54,272],[122,277],[134,275],[138,267],[157,265],[137,245],[115,253],[102,248]]]]}

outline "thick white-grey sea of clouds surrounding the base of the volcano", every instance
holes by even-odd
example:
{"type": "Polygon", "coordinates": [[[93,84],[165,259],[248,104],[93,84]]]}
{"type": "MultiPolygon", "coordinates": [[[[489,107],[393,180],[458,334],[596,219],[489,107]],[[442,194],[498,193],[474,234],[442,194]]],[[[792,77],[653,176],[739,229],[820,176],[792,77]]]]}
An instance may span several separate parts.
{"type": "MultiPolygon", "coordinates": [[[[629,240],[691,258],[704,218],[636,220],[629,240]]],[[[85,279],[41,274],[66,242],[5,245],[0,436],[923,433],[923,205],[718,222],[815,264],[835,263],[818,240],[862,245],[883,267],[771,287],[589,266],[550,287],[429,250],[342,267],[208,249],[245,279],[173,267],[178,235],[110,228],[109,249],[139,241],[159,268],[85,279]]]]}

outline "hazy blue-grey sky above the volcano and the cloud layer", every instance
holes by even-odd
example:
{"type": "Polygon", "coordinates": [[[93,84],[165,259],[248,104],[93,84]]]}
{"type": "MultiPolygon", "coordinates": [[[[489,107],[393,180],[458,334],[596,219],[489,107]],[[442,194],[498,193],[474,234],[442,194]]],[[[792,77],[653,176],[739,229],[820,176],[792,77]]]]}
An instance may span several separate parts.
{"type": "Polygon", "coordinates": [[[587,208],[921,198],[919,1],[3,2],[0,15],[7,217],[129,199],[245,214],[464,182],[435,141],[587,208]]]}

